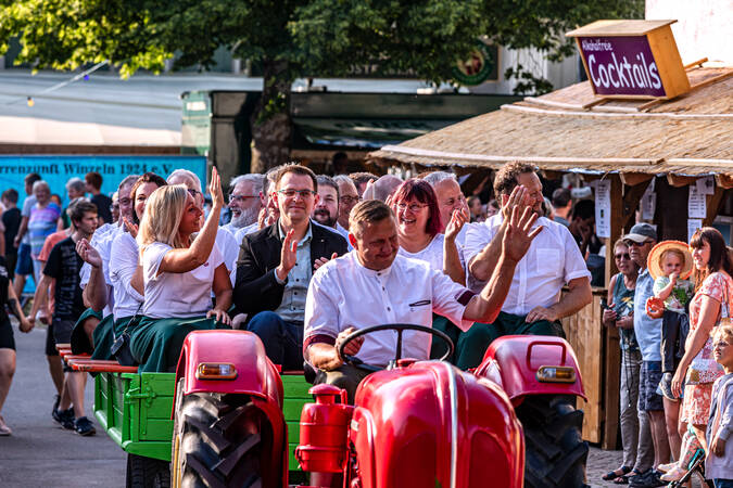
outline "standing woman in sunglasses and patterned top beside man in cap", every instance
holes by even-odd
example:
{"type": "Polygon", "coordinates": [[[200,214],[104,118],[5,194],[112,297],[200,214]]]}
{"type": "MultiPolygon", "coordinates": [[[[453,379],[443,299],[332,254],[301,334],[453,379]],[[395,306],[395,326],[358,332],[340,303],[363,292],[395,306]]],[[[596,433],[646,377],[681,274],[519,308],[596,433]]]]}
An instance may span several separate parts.
{"type": "Polygon", "coordinates": [[[620,423],[621,445],[623,446],[623,463],[621,467],[603,476],[605,480],[625,484],[635,475],[636,445],[639,444],[639,374],[642,365],[642,354],[634,334],[634,291],[639,266],[631,260],[629,246],[623,240],[614,244],[614,260],[619,269],[608,283],[608,306],[603,311],[603,324],[618,328],[621,346],[621,385],[620,385],[620,423]]]}

